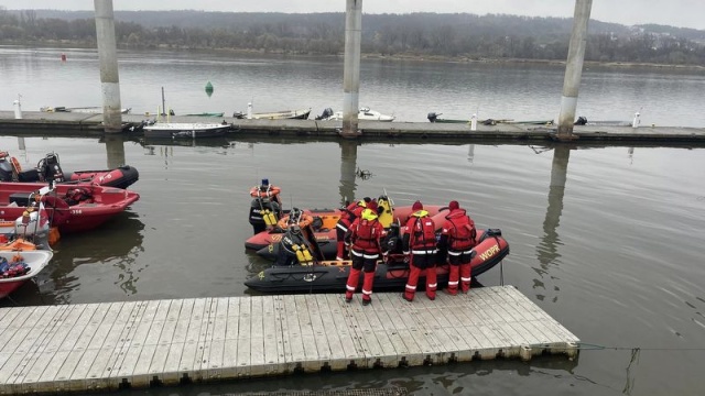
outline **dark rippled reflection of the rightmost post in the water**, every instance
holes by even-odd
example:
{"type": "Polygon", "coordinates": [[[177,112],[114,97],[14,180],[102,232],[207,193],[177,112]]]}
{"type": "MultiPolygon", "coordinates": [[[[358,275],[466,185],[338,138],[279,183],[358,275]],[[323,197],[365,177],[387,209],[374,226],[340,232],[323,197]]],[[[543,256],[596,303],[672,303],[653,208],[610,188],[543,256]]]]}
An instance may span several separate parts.
{"type": "Polygon", "coordinates": [[[544,300],[549,293],[553,294],[552,302],[558,300],[560,287],[555,284],[557,277],[550,274],[549,267],[552,264],[561,263],[561,253],[558,248],[562,245],[561,238],[557,232],[561,222],[561,213],[563,212],[563,196],[565,195],[565,180],[567,178],[568,160],[571,148],[567,145],[557,145],[553,151],[553,163],[551,166],[551,183],[549,185],[549,206],[546,216],[543,220],[543,237],[536,246],[536,258],[539,260],[539,268],[533,268],[539,278],[534,279],[534,289],[543,289],[538,293],[536,298],[544,300]],[[553,290],[546,283],[553,284],[553,290]]]}

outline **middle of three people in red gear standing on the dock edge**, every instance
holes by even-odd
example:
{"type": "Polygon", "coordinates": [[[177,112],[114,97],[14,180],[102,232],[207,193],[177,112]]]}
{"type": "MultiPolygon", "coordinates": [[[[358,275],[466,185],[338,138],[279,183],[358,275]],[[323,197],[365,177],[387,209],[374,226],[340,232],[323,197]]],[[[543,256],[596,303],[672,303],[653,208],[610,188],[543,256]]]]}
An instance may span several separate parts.
{"type": "Polygon", "coordinates": [[[413,213],[409,217],[403,234],[404,257],[409,257],[409,280],[404,289],[404,299],[413,301],[416,283],[422,271],[426,271],[426,297],[436,298],[436,224],[423,209],[421,201],[411,207],[413,213]]]}

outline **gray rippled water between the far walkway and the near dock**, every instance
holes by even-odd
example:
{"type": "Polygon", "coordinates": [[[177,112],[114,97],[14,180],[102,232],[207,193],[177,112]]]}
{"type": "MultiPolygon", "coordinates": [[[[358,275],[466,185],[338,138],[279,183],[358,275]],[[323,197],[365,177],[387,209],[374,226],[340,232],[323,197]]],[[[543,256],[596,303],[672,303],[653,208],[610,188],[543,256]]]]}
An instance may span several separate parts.
{"type": "MultiPolygon", "coordinates": [[[[32,166],[56,151],[65,169],[105,167],[97,140],[2,136],[32,166]]],[[[110,143],[115,144],[115,143],[110,143]]],[[[122,143],[141,195],[90,233],[64,235],[52,264],[13,299],[78,304],[249,294],[269,263],[245,251],[248,190],[268,177],[286,207],[378,196],[397,205],[457,199],[511,253],[486,286],[517,286],[582,341],[575,362],[475,362],[286,377],[150,394],[400,385],[419,395],[698,394],[704,358],[703,148],[269,142],[122,143]],[[356,177],[355,169],[371,177],[356,177]],[[352,169],[352,172],[350,172],[352,169]],[[565,183],[561,183],[561,180],[565,183]],[[636,348],[640,350],[634,352],[636,348]],[[636,353],[636,356],[633,355],[636,353]],[[191,389],[191,391],[189,391],[191,389]]],[[[11,306],[11,301],[2,301],[11,306]]]]}

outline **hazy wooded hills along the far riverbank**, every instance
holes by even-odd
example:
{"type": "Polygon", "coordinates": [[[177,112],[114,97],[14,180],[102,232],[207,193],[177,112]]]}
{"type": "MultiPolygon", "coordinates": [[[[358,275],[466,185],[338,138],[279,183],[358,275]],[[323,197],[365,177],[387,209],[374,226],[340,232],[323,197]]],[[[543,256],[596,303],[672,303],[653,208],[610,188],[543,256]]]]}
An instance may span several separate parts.
{"type": "MultiPolygon", "coordinates": [[[[366,14],[362,53],[453,59],[565,61],[572,19],[366,14]]],[[[586,61],[705,66],[705,32],[590,21],[586,61]]],[[[118,45],[339,55],[344,13],[116,12],[118,45]]],[[[91,12],[0,8],[0,43],[96,46],[91,12]]]]}

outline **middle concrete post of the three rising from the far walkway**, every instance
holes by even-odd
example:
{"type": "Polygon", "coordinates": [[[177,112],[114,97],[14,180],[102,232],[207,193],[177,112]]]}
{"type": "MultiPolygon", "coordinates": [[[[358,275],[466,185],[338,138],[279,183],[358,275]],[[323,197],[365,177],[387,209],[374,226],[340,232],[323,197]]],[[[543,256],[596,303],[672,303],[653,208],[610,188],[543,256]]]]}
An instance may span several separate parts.
{"type": "Polygon", "coordinates": [[[360,102],[360,43],[362,0],[347,0],[345,13],[345,67],[343,70],[343,136],[358,134],[360,102]]]}

